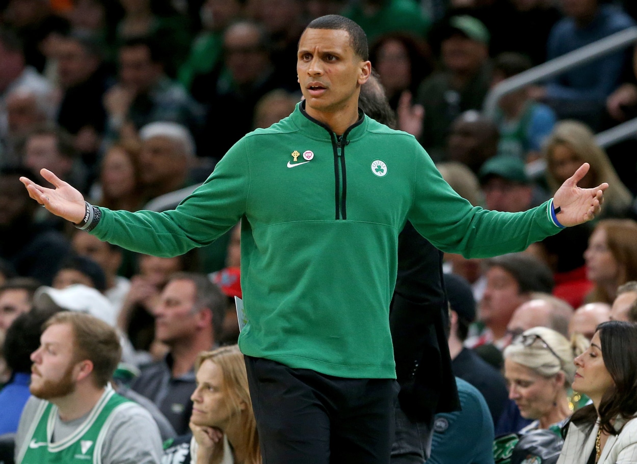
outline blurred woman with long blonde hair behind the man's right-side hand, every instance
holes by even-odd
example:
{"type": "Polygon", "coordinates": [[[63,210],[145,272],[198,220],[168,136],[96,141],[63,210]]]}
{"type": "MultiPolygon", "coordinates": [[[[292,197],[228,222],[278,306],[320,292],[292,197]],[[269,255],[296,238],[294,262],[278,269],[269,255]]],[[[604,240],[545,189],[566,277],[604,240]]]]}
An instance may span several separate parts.
{"type": "Polygon", "coordinates": [[[626,214],[633,202],[633,195],[624,186],[613,168],[606,152],[598,146],[589,127],[579,121],[561,121],[555,125],[544,146],[547,161],[547,182],[555,193],[582,163],[589,163],[589,172],[578,182],[581,188],[590,188],[608,182],[604,192],[604,207],[600,217],[616,217],[626,214]]]}

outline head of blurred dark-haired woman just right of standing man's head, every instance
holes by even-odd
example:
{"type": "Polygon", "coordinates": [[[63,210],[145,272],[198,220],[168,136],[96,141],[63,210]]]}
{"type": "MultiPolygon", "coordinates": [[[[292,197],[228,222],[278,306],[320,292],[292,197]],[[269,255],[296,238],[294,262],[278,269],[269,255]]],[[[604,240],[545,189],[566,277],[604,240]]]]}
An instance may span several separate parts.
{"type": "Polygon", "coordinates": [[[422,79],[433,71],[427,43],[404,32],[378,38],[369,48],[369,60],[378,72],[389,106],[394,111],[403,92],[415,95],[422,79]]]}

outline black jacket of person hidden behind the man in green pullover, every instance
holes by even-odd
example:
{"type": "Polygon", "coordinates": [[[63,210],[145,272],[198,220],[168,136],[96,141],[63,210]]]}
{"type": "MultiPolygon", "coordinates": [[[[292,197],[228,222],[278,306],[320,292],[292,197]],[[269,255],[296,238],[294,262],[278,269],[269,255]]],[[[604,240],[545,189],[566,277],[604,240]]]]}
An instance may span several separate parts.
{"type": "Polygon", "coordinates": [[[447,345],[442,252],[410,222],[398,236],[398,273],[390,306],[401,409],[413,421],[460,409],[447,345]]]}

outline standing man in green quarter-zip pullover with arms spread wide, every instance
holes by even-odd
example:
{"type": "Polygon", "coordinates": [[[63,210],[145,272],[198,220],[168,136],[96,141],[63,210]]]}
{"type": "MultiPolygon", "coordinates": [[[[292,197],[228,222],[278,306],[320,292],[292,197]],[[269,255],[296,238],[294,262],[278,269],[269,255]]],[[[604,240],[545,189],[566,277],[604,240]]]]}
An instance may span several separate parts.
{"type": "Polygon", "coordinates": [[[409,134],[359,113],[371,72],[362,29],[313,20],[299,41],[305,101],[249,133],[172,211],[93,207],[52,172],[22,178],[34,200],[101,240],[158,256],[207,245],[241,221],[247,325],[239,339],[266,464],[389,462],[396,377],[389,301],[409,220],[443,251],[525,249],[599,211],[602,184],[520,213],[472,207],[409,134]]]}

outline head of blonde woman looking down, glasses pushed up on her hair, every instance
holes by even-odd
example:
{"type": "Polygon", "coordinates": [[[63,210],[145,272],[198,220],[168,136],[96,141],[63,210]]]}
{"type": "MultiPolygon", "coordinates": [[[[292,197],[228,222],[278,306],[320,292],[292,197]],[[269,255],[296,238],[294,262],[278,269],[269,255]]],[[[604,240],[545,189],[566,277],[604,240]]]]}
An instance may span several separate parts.
{"type": "Polygon", "coordinates": [[[575,378],[573,359],[588,342],[583,336],[569,341],[547,327],[533,327],[513,339],[504,351],[509,398],[520,414],[533,422],[519,431],[559,429],[576,409],[577,395],[570,385],[575,378]]]}

